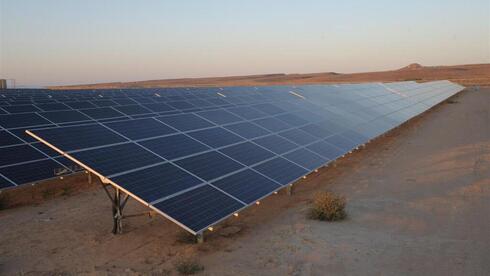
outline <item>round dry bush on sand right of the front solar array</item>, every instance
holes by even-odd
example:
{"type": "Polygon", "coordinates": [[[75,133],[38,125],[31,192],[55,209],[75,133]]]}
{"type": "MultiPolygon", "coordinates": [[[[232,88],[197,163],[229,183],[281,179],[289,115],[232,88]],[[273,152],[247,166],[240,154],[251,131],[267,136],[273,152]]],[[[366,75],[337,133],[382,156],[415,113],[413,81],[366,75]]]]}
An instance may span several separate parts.
{"type": "Polygon", "coordinates": [[[313,207],[308,213],[310,219],[339,221],[347,217],[345,197],[331,192],[320,192],[315,195],[313,207]]]}

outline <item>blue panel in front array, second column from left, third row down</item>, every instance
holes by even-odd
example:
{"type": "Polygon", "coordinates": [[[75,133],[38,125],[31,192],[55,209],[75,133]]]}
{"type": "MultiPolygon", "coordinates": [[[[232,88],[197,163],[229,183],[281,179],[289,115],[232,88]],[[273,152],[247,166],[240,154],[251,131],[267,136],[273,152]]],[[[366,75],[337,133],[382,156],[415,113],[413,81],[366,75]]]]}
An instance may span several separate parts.
{"type": "Polygon", "coordinates": [[[215,151],[181,159],[176,164],[207,181],[243,167],[239,163],[215,151]]]}

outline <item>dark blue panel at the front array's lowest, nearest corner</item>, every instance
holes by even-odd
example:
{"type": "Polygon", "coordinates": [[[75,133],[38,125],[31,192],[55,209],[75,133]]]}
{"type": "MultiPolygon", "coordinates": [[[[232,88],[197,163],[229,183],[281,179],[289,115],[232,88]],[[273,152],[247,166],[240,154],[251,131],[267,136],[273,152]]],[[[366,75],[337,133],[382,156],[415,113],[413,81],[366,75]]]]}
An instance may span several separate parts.
{"type": "Polygon", "coordinates": [[[245,205],[219,190],[204,185],[154,205],[194,232],[206,229],[216,221],[245,205]]]}

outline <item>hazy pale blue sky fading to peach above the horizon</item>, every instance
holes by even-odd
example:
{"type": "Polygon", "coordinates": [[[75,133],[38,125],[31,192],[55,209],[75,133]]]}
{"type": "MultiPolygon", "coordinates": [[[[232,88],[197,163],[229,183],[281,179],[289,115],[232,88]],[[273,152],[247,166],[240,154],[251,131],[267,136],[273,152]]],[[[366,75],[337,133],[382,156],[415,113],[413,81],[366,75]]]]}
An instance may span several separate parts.
{"type": "Polygon", "coordinates": [[[490,0],[0,0],[25,86],[490,62],[490,0]]]}

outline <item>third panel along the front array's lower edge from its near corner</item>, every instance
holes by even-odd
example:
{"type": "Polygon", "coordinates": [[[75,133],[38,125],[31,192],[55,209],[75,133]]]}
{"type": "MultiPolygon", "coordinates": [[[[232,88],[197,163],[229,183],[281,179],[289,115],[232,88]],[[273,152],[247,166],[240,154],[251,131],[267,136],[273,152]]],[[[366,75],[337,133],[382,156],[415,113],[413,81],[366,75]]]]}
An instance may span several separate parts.
{"type": "Polygon", "coordinates": [[[254,169],[274,179],[281,185],[289,184],[308,173],[307,170],[281,157],[259,164],[255,166],[254,169]]]}

